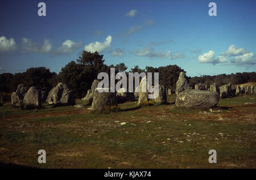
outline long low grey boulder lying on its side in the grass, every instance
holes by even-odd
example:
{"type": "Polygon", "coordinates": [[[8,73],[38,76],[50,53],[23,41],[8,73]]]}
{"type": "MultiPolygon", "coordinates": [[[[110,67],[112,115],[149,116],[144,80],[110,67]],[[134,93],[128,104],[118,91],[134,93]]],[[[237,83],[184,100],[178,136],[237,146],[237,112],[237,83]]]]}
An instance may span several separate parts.
{"type": "Polygon", "coordinates": [[[217,92],[189,89],[177,95],[175,104],[178,107],[184,108],[208,108],[211,106],[216,106],[218,104],[219,99],[220,96],[218,95],[217,92]]]}

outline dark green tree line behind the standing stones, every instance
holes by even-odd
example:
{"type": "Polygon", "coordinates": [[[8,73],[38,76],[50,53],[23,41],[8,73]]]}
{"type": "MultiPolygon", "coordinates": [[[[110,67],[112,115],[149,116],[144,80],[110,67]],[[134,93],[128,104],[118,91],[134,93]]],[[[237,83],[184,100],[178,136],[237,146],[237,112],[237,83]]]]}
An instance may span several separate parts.
{"type": "MultiPolygon", "coordinates": [[[[26,72],[15,74],[3,73],[0,74],[0,92],[14,92],[19,84],[24,84],[27,87],[36,86],[42,89],[42,91],[49,92],[57,83],[62,82],[71,86],[75,91],[76,97],[81,98],[86,95],[93,80],[97,79],[98,73],[106,72],[110,75],[110,68],[113,67],[115,68],[116,74],[118,72],[126,72],[127,75],[128,72],[152,72],[152,74],[159,72],[159,84],[175,91],[180,72],[185,72],[177,65],[160,67],[146,66],[144,69],[139,68],[139,66],[134,66],[130,71],[127,71],[125,63],[107,66],[104,62],[104,55],[100,55],[98,52],[91,53],[84,51],[76,61],[71,61],[65,65],[65,67],[61,68],[59,74],[49,71],[46,67],[31,67],[28,68],[26,72]]],[[[221,74],[216,76],[203,75],[193,78],[185,76],[185,78],[188,80],[191,87],[195,87],[197,83],[203,83],[205,85],[217,83],[218,85],[222,85],[227,83],[241,84],[256,82],[255,72],[243,72],[230,75],[221,74]]]]}

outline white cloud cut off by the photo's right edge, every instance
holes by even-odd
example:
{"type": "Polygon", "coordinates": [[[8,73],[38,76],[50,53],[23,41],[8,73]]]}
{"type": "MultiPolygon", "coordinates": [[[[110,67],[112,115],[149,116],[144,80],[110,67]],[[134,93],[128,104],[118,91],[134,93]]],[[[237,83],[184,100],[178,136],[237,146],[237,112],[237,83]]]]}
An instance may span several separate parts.
{"type": "Polygon", "coordinates": [[[243,55],[237,55],[231,63],[237,65],[256,65],[256,57],[253,53],[245,53],[243,55]]]}

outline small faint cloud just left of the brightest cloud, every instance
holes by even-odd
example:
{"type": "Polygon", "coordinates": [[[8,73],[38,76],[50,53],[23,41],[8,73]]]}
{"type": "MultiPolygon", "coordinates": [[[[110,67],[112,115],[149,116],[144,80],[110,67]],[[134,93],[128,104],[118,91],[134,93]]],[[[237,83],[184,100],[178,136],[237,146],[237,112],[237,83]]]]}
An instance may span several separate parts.
{"type": "Polygon", "coordinates": [[[65,40],[61,46],[52,52],[52,55],[60,55],[60,54],[71,54],[76,49],[80,48],[82,42],[73,42],[71,40],[65,40]]]}

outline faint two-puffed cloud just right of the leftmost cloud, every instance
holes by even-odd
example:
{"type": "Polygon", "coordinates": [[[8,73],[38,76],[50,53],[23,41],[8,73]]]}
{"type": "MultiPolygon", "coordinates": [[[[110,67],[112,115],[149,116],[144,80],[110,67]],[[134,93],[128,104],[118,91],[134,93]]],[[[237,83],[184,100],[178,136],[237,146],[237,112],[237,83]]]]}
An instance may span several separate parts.
{"type": "Polygon", "coordinates": [[[23,37],[22,38],[22,53],[48,53],[52,49],[51,42],[45,39],[44,44],[36,44],[32,42],[31,39],[23,37]]]}

